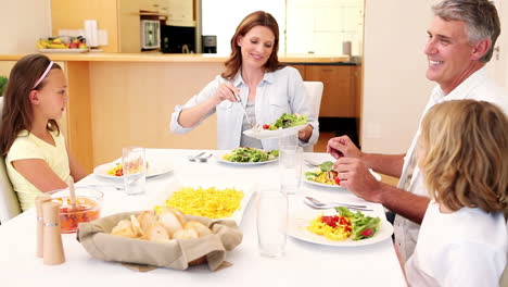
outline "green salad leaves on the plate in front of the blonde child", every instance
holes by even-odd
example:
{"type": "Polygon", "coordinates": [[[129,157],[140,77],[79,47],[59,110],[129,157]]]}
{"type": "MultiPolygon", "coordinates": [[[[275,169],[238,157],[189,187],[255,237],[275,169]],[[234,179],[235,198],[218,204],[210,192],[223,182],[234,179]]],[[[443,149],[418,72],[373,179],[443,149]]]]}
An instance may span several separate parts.
{"type": "Polygon", "coordinates": [[[340,215],[350,219],[353,226],[351,232],[351,239],[353,240],[360,240],[372,237],[381,223],[381,219],[365,216],[360,211],[354,213],[344,207],[338,207],[335,210],[340,215]]]}

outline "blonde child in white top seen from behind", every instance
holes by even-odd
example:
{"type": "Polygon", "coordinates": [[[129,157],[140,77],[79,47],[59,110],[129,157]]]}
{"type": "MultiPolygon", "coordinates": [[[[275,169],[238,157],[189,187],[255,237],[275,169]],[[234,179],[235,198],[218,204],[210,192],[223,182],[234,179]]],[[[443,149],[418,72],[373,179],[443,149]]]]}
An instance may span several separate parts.
{"type": "Polygon", "coordinates": [[[508,120],[473,100],[434,105],[422,122],[418,159],[431,202],[410,286],[499,286],[507,262],[508,120]]]}

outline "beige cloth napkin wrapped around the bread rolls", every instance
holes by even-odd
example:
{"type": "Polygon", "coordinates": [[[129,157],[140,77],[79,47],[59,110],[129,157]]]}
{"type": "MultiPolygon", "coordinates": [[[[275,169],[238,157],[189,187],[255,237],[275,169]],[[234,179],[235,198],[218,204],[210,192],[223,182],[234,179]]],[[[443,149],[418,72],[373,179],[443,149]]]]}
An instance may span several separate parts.
{"type": "Polygon", "coordinates": [[[189,262],[206,257],[211,271],[219,269],[226,258],[226,251],[232,250],[242,241],[243,235],[234,221],[213,221],[194,215],[187,217],[208,226],[211,235],[196,239],[155,242],[110,234],[120,220],[129,220],[131,214],[139,213],[141,211],[125,212],[79,223],[77,240],[90,255],[105,261],[186,270],[189,262]]]}

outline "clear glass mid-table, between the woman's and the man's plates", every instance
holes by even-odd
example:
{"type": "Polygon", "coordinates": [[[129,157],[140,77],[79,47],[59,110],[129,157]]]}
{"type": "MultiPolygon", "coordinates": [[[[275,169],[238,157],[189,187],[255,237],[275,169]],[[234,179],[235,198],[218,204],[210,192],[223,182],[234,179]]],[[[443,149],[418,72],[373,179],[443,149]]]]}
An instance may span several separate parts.
{"type": "Polygon", "coordinates": [[[295,146],[281,147],[279,150],[280,191],[296,194],[302,182],[303,149],[295,146]]]}

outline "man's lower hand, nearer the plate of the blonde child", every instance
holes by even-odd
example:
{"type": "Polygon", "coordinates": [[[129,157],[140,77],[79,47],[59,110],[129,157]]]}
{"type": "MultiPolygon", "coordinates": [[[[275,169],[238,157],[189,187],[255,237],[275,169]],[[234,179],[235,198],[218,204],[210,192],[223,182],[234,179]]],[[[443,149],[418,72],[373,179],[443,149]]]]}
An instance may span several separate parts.
{"type": "Polygon", "coordinates": [[[365,200],[381,202],[381,184],[357,158],[340,158],[333,164],[341,186],[365,200]]]}

